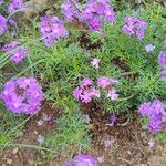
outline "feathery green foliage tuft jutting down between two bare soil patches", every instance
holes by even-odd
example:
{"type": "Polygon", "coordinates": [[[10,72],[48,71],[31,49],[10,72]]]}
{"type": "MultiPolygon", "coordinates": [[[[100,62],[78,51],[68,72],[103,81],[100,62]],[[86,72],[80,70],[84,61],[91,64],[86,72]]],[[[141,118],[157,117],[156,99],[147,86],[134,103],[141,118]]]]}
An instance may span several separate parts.
{"type": "Polygon", "coordinates": [[[91,147],[90,125],[85,124],[81,113],[64,114],[56,121],[56,129],[48,135],[45,145],[68,154],[68,151],[81,152],[91,147]]]}

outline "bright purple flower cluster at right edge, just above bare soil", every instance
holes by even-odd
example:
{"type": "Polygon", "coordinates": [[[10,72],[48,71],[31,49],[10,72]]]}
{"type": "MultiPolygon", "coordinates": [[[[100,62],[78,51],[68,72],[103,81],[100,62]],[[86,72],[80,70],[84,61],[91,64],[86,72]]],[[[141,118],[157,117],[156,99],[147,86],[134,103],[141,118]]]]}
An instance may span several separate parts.
{"type": "Polygon", "coordinates": [[[148,129],[152,133],[159,132],[164,123],[166,123],[165,104],[159,100],[142,104],[138,111],[142,116],[148,117],[148,129]]]}

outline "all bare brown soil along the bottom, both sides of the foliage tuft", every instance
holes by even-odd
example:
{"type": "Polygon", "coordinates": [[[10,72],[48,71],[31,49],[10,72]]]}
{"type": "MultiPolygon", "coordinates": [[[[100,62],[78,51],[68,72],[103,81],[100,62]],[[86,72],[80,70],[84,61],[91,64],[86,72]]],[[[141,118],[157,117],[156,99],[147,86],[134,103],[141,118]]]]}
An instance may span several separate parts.
{"type": "MultiPolygon", "coordinates": [[[[128,121],[125,115],[120,114],[115,124],[111,126],[110,114],[104,114],[101,105],[91,103],[81,107],[82,113],[90,116],[92,125],[90,134],[93,136],[93,145],[86,153],[93,154],[101,160],[98,166],[139,166],[141,164],[164,166],[166,149],[157,142],[149,147],[152,135],[142,129],[136,118],[128,121]],[[106,142],[110,144],[106,145],[106,142]]],[[[24,125],[22,135],[17,139],[18,144],[39,145],[38,135],[45,135],[55,129],[55,123],[50,121],[41,126],[38,125],[43,113],[53,116],[54,120],[61,115],[61,111],[44,103],[40,114],[30,118],[24,125]]],[[[21,146],[0,151],[2,166],[62,166],[64,160],[62,156],[45,158],[42,151],[21,146]]]]}

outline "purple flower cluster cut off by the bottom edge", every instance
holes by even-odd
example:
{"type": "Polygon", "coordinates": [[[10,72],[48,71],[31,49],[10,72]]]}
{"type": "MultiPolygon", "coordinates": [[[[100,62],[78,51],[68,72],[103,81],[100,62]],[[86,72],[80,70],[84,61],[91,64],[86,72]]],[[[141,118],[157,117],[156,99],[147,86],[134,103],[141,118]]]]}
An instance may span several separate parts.
{"type": "Polygon", "coordinates": [[[97,166],[97,162],[91,155],[77,155],[74,160],[76,166],[97,166]]]}

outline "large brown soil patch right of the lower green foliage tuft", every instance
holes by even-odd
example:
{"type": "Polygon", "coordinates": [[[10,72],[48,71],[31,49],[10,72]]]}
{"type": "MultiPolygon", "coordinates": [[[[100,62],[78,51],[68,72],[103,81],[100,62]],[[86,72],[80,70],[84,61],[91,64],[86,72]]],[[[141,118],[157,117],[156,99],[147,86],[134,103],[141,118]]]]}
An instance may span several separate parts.
{"type": "Polygon", "coordinates": [[[166,157],[164,147],[153,141],[153,135],[142,129],[138,115],[127,120],[125,115],[117,115],[114,125],[110,125],[111,114],[104,114],[101,105],[83,106],[83,113],[90,115],[92,124],[94,156],[102,158],[101,166],[138,166],[142,164],[163,166],[166,157]],[[160,156],[160,157],[159,157],[160,156]]]}

